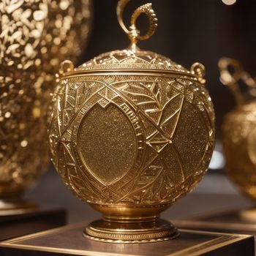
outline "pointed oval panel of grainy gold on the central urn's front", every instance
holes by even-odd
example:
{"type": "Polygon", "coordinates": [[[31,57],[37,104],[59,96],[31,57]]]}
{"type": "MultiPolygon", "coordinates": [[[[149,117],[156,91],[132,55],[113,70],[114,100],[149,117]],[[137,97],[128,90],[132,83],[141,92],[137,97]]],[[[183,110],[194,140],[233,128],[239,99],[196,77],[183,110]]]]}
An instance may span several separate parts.
{"type": "Polygon", "coordinates": [[[134,127],[113,103],[105,108],[95,104],[80,123],[80,159],[91,175],[104,185],[113,184],[128,173],[135,163],[137,148],[134,127]]]}

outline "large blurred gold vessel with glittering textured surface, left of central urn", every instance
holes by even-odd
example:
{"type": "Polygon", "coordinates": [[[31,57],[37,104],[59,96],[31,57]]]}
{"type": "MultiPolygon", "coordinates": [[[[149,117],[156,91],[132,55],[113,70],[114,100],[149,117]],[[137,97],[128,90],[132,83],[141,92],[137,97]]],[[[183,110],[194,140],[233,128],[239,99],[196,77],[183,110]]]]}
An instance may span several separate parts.
{"type": "Polygon", "coordinates": [[[1,0],[0,214],[34,207],[20,197],[48,164],[45,116],[55,74],[61,61],[80,55],[90,25],[90,0],[1,0]]]}

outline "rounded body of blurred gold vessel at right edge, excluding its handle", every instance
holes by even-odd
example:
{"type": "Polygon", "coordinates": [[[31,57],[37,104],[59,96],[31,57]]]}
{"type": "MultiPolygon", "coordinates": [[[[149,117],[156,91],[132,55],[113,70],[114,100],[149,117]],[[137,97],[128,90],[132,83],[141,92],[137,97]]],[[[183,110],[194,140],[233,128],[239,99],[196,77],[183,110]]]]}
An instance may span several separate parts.
{"type": "Polygon", "coordinates": [[[230,111],[222,124],[228,176],[245,195],[256,200],[256,102],[230,111]]]}

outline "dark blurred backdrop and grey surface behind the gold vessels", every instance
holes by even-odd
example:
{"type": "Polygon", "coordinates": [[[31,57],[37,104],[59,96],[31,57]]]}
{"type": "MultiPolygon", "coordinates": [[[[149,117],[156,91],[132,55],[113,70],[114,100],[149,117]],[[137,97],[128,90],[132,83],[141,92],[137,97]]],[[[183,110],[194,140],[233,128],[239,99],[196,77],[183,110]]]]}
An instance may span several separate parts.
{"type": "MultiPolygon", "coordinates": [[[[220,138],[222,118],[235,106],[233,95],[219,82],[217,62],[222,56],[238,59],[244,69],[254,75],[256,67],[256,1],[236,0],[148,0],[153,3],[158,18],[156,34],[139,47],[153,50],[170,57],[184,67],[200,61],[206,66],[207,87],[214,102],[217,116],[217,138],[220,138]]],[[[124,13],[129,26],[133,10],[146,1],[133,0],[124,13]]],[[[94,0],[94,27],[89,45],[80,59],[80,64],[110,50],[127,48],[129,39],[121,30],[116,18],[117,0],[94,0]]],[[[147,20],[138,20],[139,28],[145,31],[147,20]]],[[[207,211],[248,206],[232,182],[222,172],[221,144],[211,162],[211,170],[194,192],[171,207],[165,218],[186,218],[207,211]]],[[[62,206],[69,210],[69,222],[99,216],[81,202],[64,186],[50,168],[28,195],[42,205],[62,206]]]]}

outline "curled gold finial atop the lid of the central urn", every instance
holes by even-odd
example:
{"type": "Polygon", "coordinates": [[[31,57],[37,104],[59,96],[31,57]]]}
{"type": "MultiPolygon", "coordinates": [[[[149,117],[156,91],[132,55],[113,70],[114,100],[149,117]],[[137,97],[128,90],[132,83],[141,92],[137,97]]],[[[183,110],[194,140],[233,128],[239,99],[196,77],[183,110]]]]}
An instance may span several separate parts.
{"type": "Polygon", "coordinates": [[[131,26],[129,27],[129,29],[127,29],[127,27],[124,25],[123,13],[124,13],[124,8],[127,6],[127,3],[129,1],[130,0],[118,1],[116,14],[117,14],[118,22],[121,28],[125,31],[125,33],[127,33],[132,44],[136,44],[139,40],[140,41],[146,40],[154,34],[154,32],[157,29],[157,16],[151,7],[152,4],[144,4],[141,7],[138,7],[135,10],[135,12],[133,12],[132,18],[131,18],[131,26]],[[149,28],[147,33],[144,35],[140,35],[140,31],[136,28],[136,20],[142,13],[146,14],[149,20],[149,28]]]}

